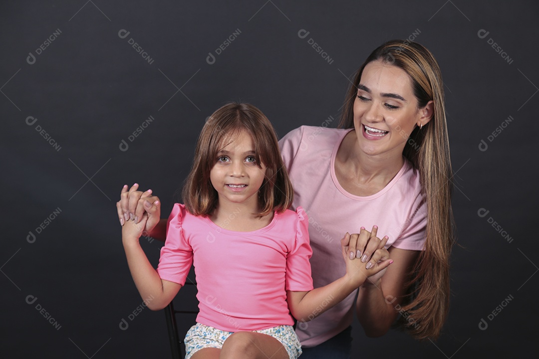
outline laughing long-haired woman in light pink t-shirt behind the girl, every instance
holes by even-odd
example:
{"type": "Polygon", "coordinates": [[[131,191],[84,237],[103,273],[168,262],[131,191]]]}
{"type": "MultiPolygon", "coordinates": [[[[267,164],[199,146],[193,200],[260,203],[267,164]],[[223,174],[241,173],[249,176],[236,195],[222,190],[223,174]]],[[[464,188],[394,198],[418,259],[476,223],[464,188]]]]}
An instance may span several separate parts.
{"type": "MultiPolygon", "coordinates": [[[[444,89],[433,55],[417,43],[388,41],[358,70],[340,129],[302,126],[280,146],[293,207],[309,216],[314,286],[342,276],[342,233],[377,226],[389,236],[393,264],[359,288],[355,307],[365,333],[381,336],[398,317],[415,338],[438,337],[448,311],[453,215],[444,89]]],[[[137,188],[122,196],[119,216],[141,218],[146,210],[150,230],[159,202],[137,188]]],[[[164,238],[165,223],[151,235],[164,238]]],[[[357,238],[350,237],[350,257],[363,261],[379,241],[357,238]]],[[[302,357],[350,356],[354,300],[352,293],[299,323],[302,357]]]]}

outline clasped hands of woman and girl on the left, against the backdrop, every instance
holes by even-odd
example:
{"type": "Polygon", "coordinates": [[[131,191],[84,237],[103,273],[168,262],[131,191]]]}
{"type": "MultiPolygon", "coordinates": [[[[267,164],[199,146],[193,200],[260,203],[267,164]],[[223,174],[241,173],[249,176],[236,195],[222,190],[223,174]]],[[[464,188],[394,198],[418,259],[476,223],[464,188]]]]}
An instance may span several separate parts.
{"type": "Polygon", "coordinates": [[[123,226],[128,220],[141,222],[144,214],[148,216],[144,231],[150,232],[160,220],[161,202],[157,196],[151,195],[151,189],[146,192],[137,191],[138,184],[134,184],[129,191],[127,185],[123,186],[120,201],[116,202],[118,219],[123,226]]]}

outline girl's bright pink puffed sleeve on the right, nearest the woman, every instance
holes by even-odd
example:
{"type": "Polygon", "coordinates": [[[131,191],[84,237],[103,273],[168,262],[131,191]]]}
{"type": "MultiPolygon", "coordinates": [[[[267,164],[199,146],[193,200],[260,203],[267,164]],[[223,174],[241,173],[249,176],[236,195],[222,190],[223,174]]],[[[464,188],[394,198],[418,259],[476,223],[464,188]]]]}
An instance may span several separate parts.
{"type": "Polygon", "coordinates": [[[286,258],[286,290],[304,292],[313,289],[309,263],[313,250],[309,244],[307,214],[302,207],[296,208],[296,214],[296,235],[286,258]]]}

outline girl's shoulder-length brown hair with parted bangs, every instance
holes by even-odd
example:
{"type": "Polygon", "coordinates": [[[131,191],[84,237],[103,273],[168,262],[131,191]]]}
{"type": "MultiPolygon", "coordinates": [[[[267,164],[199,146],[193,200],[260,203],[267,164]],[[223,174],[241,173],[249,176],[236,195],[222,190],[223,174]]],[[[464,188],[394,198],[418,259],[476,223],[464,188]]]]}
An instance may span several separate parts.
{"type": "Polygon", "coordinates": [[[216,208],[218,194],[211,184],[210,171],[217,162],[219,150],[241,131],[246,131],[253,140],[258,166],[266,166],[256,215],[265,216],[274,210],[284,212],[292,205],[292,183],[282,163],[271,122],[253,105],[231,102],[213,112],[198,136],[195,159],[182,192],[183,202],[191,214],[211,215],[216,208]]]}

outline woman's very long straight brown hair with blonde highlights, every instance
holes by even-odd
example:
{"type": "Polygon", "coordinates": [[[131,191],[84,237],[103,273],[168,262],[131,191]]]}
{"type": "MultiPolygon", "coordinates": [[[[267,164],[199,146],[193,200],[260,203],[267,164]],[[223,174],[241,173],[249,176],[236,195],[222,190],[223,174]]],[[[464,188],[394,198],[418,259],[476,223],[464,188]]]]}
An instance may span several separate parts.
{"type": "Polygon", "coordinates": [[[424,46],[407,40],[391,40],[376,48],[358,70],[347,94],[341,128],[354,127],[354,101],[363,69],[372,61],[403,69],[423,108],[433,101],[431,121],[414,128],[403,150],[419,171],[421,191],[427,204],[425,249],[413,267],[406,305],[402,309],[414,321],[403,323],[416,339],[437,338],[447,318],[450,297],[450,254],[454,244],[451,208],[452,169],[444,105],[444,83],[432,53],[424,46]]]}

